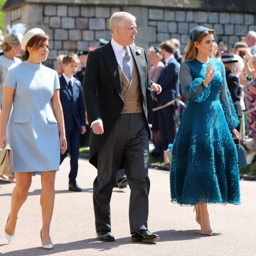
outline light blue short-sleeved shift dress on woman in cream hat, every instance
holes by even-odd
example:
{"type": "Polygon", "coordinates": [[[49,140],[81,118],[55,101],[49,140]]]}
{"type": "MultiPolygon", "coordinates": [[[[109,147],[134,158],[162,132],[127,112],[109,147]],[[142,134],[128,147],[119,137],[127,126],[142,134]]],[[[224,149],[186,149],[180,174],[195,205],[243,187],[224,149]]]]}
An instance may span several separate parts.
{"type": "Polygon", "coordinates": [[[51,103],[54,90],[60,89],[57,72],[24,61],[8,71],[3,87],[15,90],[7,125],[13,172],[58,170],[60,140],[51,103]]]}

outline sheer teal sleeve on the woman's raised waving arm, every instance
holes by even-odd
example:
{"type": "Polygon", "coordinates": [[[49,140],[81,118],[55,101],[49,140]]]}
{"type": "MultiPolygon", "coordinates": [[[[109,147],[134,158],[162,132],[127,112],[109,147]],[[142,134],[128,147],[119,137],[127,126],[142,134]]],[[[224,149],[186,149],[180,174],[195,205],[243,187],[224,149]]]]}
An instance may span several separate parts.
{"type": "Polygon", "coordinates": [[[191,70],[188,64],[182,63],[180,68],[181,92],[189,101],[203,102],[210,94],[210,83],[203,86],[203,78],[192,78],[191,70]]]}

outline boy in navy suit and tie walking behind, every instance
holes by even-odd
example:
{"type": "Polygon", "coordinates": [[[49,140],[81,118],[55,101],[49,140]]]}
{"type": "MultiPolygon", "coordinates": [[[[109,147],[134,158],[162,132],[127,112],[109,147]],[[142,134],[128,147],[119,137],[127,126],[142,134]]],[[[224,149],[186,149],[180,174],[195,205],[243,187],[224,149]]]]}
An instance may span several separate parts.
{"type": "Polygon", "coordinates": [[[60,164],[69,153],[71,169],[68,175],[68,190],[70,191],[82,191],[75,180],[78,171],[79,137],[80,133],[86,132],[82,86],[81,82],[73,76],[79,62],[79,57],[75,53],[66,54],[62,60],[64,73],[60,76],[60,102],[63,108],[68,143],[68,150],[65,154],[60,154],[60,164]]]}

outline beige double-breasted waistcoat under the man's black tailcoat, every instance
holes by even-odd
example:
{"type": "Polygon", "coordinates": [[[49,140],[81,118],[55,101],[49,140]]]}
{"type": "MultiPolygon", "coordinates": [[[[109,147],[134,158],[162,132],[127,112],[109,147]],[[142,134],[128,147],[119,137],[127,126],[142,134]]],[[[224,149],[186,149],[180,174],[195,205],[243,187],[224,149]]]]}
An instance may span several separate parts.
{"type": "Polygon", "coordinates": [[[132,77],[130,83],[120,67],[119,70],[124,95],[124,108],[122,109],[121,114],[143,113],[139,91],[139,76],[136,69],[136,64],[133,61],[132,77]]]}

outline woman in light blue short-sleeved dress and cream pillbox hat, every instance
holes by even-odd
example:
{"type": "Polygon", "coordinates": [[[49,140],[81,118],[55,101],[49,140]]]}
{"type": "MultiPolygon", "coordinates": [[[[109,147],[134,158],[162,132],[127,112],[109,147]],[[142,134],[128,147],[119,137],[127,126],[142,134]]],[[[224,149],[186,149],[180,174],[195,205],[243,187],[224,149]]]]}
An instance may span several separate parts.
{"type": "Polygon", "coordinates": [[[48,35],[39,28],[29,30],[21,45],[25,50],[24,61],[7,73],[0,114],[0,147],[11,144],[12,171],[16,177],[16,186],[11,195],[11,212],[4,231],[10,243],[19,210],[28,196],[32,176],[41,174],[40,234],[43,248],[52,249],[49,230],[53,215],[55,174],[60,166],[60,152],[64,154],[67,149],[60,84],[56,71],[41,64],[49,53],[48,35]]]}

